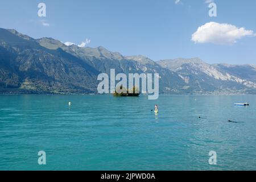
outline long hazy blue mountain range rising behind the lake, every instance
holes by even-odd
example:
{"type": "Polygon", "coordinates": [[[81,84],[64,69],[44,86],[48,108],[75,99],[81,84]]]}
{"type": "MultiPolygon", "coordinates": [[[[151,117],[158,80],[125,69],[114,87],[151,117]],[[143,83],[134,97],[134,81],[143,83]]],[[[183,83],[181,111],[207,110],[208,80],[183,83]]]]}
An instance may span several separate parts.
{"type": "Polygon", "coordinates": [[[65,46],[0,28],[0,94],[97,93],[99,73],[159,73],[166,94],[256,94],[256,66],[199,58],[153,61],[104,47],[65,46]]]}

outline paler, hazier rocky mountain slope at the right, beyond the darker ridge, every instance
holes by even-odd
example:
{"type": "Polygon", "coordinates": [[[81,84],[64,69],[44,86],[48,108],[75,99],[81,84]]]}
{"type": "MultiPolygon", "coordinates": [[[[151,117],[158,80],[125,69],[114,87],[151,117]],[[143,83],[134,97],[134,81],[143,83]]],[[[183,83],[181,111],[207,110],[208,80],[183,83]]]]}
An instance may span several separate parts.
{"type": "Polygon", "coordinates": [[[157,63],[177,73],[193,93],[256,93],[253,65],[211,65],[199,58],[161,60],[157,63]]]}

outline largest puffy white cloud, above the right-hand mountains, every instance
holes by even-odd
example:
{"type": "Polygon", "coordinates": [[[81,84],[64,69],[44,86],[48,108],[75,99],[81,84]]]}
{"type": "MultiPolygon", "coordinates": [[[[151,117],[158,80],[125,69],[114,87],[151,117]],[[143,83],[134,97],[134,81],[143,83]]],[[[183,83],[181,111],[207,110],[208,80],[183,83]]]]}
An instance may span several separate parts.
{"type": "Polygon", "coordinates": [[[232,24],[209,22],[197,28],[191,40],[195,43],[233,45],[245,36],[256,36],[256,34],[252,30],[237,28],[232,24]]]}

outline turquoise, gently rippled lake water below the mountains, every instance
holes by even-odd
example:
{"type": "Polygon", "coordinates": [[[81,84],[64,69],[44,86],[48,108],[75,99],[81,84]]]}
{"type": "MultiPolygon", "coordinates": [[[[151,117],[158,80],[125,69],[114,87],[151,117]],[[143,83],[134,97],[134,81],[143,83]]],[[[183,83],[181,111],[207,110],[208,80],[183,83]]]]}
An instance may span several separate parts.
{"type": "Polygon", "coordinates": [[[255,170],[256,96],[0,96],[0,169],[255,170]]]}

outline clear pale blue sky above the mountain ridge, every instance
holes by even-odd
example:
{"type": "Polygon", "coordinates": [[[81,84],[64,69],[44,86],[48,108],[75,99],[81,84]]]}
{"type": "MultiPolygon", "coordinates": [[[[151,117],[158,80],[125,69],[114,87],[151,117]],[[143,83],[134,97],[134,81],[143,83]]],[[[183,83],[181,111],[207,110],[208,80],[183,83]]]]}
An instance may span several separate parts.
{"type": "MultiPolygon", "coordinates": [[[[51,37],[76,44],[88,39],[89,47],[103,46],[152,60],[200,57],[207,63],[256,64],[255,0],[215,0],[217,17],[208,15],[205,0],[175,1],[1,0],[0,27],[14,28],[33,38],[51,37]],[[38,16],[40,2],[46,3],[46,18],[38,16]],[[209,22],[217,23],[216,31],[228,24],[237,30],[244,27],[238,32],[250,31],[250,35],[236,34],[236,43],[230,44],[216,32],[205,40],[192,41],[197,28],[209,22]]],[[[209,33],[205,27],[203,31],[209,33]]],[[[205,32],[198,32],[197,38],[202,38],[201,33],[205,32]]]]}

